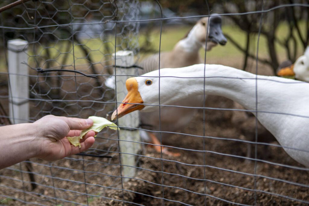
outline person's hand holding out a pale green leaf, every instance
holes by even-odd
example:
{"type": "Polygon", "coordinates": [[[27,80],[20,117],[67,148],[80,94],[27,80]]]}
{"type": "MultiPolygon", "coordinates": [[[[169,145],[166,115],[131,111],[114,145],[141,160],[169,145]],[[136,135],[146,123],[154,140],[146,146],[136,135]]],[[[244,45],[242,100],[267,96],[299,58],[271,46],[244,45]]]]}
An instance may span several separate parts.
{"type": "Polygon", "coordinates": [[[81,148],[71,145],[66,137],[79,136],[81,130],[92,126],[91,119],[47,115],[32,123],[38,142],[37,158],[55,161],[83,152],[95,142],[95,132],[89,131],[81,140],[81,148]]]}

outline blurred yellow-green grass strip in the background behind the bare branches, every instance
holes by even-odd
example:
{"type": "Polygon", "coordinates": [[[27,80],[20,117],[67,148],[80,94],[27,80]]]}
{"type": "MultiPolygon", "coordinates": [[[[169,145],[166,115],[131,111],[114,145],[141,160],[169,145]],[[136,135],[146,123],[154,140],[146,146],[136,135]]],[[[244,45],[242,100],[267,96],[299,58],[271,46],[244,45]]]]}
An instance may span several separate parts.
{"type": "MultiPolygon", "coordinates": [[[[305,22],[300,23],[300,28],[304,34],[305,32],[305,22]]],[[[162,39],[161,39],[161,51],[170,51],[174,45],[183,38],[183,36],[191,29],[190,26],[177,26],[177,27],[171,27],[169,25],[163,26],[162,31],[162,39]]],[[[236,42],[238,42],[242,47],[245,46],[246,42],[246,34],[242,30],[240,30],[238,27],[235,27],[233,25],[224,25],[222,27],[222,31],[224,33],[229,34],[236,42]]],[[[284,39],[288,34],[288,25],[286,23],[282,23],[277,28],[277,36],[280,40],[284,39]]],[[[101,63],[110,61],[112,58],[110,56],[110,53],[113,53],[114,48],[114,36],[107,36],[107,39],[101,40],[99,38],[96,39],[86,39],[82,40],[82,44],[84,44],[87,47],[88,51],[90,52],[90,57],[92,59],[92,62],[94,63],[101,63]],[[110,51],[106,50],[106,47],[111,48],[110,51]],[[106,56],[107,55],[107,56],[106,56]]],[[[135,37],[133,37],[135,38],[135,37]]],[[[145,42],[146,36],[145,32],[141,31],[140,36],[138,39],[139,45],[142,45],[145,42]]],[[[125,40],[121,40],[120,38],[117,39],[117,45],[119,44],[125,44],[125,42],[121,42],[125,40]]],[[[160,42],[160,30],[159,28],[155,28],[150,33],[150,42],[154,50],[159,51],[159,42],[160,42]]],[[[301,47],[299,39],[298,42],[298,56],[300,56],[303,53],[303,49],[301,47]]],[[[251,42],[251,53],[256,54],[256,44],[257,44],[257,36],[254,36],[252,38],[251,42]]],[[[73,49],[71,43],[70,45],[70,53],[66,57],[66,47],[68,45],[68,41],[58,41],[57,43],[50,44],[48,47],[37,47],[36,55],[39,55],[40,57],[37,57],[39,61],[42,62],[42,68],[47,67],[61,67],[61,65],[88,65],[89,61],[85,58],[85,55],[83,51],[81,50],[80,46],[76,45],[74,46],[74,56],[73,58],[73,49]],[[47,49],[49,50],[49,53],[51,54],[51,59],[47,58],[46,52],[47,49]],[[64,58],[66,58],[66,61],[64,61],[64,58]],[[50,62],[50,64],[48,64],[50,62]]],[[[117,50],[119,47],[117,48],[117,50]]],[[[286,60],[286,53],[284,48],[282,48],[279,44],[276,44],[276,50],[277,55],[279,57],[280,61],[286,60]]],[[[34,57],[31,57],[34,55],[32,50],[29,51],[29,59],[28,64],[35,67],[36,60],[34,57]]],[[[203,49],[200,50],[201,56],[204,57],[204,51],[203,49]]],[[[149,54],[146,54],[149,55],[149,54]]],[[[145,54],[140,53],[141,57],[144,57],[145,54]]],[[[268,58],[268,47],[267,42],[265,39],[265,36],[260,36],[260,44],[259,44],[259,56],[268,58]]],[[[243,61],[243,53],[241,53],[231,42],[228,42],[225,46],[217,46],[212,49],[211,52],[207,53],[207,59],[217,59],[217,60],[238,60],[243,61]]],[[[1,61],[1,71],[6,72],[6,66],[4,64],[4,60],[2,58],[1,61]]],[[[223,63],[222,63],[223,64],[223,63]]]]}

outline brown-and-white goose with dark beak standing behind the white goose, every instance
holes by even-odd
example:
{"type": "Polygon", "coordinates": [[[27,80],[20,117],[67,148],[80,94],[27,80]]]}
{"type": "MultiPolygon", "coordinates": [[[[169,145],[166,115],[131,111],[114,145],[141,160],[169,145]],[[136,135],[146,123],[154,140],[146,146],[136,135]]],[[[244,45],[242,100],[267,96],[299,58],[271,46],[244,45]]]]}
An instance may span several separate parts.
{"type": "MultiPolygon", "coordinates": [[[[160,53],[160,68],[180,68],[204,62],[200,57],[199,50],[206,48],[206,40],[207,51],[210,51],[217,44],[226,44],[227,40],[222,33],[221,23],[222,18],[217,14],[212,14],[210,18],[204,17],[198,20],[188,34],[177,42],[172,51],[160,53]]],[[[138,65],[144,68],[143,70],[139,70],[140,75],[159,69],[159,53],[147,57],[138,65]]],[[[174,73],[177,73],[177,69],[174,70],[174,73]]],[[[107,83],[109,85],[115,85],[115,83],[108,81],[107,83]]],[[[204,97],[201,95],[175,104],[185,107],[202,107],[203,100],[204,97]]],[[[140,113],[141,126],[152,131],[160,131],[161,129],[161,131],[176,132],[184,128],[196,113],[197,109],[162,107],[161,116],[159,116],[159,112],[140,113]]],[[[169,133],[161,133],[163,139],[169,135],[169,133]]],[[[160,144],[157,139],[159,133],[141,131],[141,136],[142,139],[151,141],[155,145],[160,144]]],[[[155,147],[155,149],[158,152],[161,151],[160,147],[155,147]]],[[[180,155],[179,153],[169,152],[166,148],[163,149],[163,153],[172,156],[180,155]]]]}

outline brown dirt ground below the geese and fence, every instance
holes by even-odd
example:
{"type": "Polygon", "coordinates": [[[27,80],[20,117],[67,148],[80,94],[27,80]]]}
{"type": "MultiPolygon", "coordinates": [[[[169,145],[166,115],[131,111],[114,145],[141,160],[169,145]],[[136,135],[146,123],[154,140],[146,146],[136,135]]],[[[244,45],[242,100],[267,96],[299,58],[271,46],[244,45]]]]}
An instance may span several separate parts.
{"type": "MultiPolygon", "coordinates": [[[[207,107],[231,108],[232,101],[210,96],[207,107]]],[[[203,115],[199,115],[182,133],[203,135],[203,115]]],[[[239,139],[239,128],[230,121],[231,111],[205,110],[205,150],[210,152],[170,149],[180,152],[180,157],[161,154],[145,147],[138,158],[137,176],[128,182],[120,181],[117,141],[110,138],[110,131],[100,134],[96,143],[97,153],[111,154],[112,159],[71,156],[49,163],[34,159],[38,187],[31,191],[26,166],[15,165],[13,169],[0,171],[0,204],[72,205],[306,205],[298,200],[309,200],[309,172],[306,170],[256,162],[256,190],[254,184],[254,161],[227,156],[246,156],[247,144],[210,137],[239,139]],[[205,154],[205,159],[204,159],[205,154]],[[202,165],[207,165],[203,167],[202,165]],[[163,175],[162,175],[163,167],[163,175]],[[20,169],[24,173],[20,173],[20,169]],[[82,172],[87,171],[86,173],[82,172]],[[21,177],[23,176],[23,177],[21,177]],[[205,177],[205,178],[204,178],[205,177]],[[23,178],[26,183],[20,181],[23,178]],[[205,179],[206,181],[204,181],[205,179]],[[86,180],[86,183],[85,182],[86,180]],[[164,187],[162,187],[162,183],[164,187]],[[302,185],[303,184],[303,185],[302,185]],[[205,195],[206,186],[206,195],[205,195]],[[124,188],[124,191],[121,188],[124,188]],[[14,189],[15,188],[15,189],[14,189]],[[27,191],[23,193],[22,189],[27,191]],[[57,189],[53,189],[57,188],[57,189]],[[285,197],[288,196],[289,198],[285,197]],[[10,198],[5,198],[10,197],[10,198]],[[102,198],[104,197],[104,198],[102,198]],[[206,198],[205,198],[206,197],[206,198]],[[109,199],[108,199],[109,198],[109,199]],[[57,200],[55,200],[57,199],[57,200]],[[293,200],[294,199],[294,200],[293,200]],[[120,201],[119,201],[120,200],[120,201]]],[[[115,136],[115,135],[114,135],[115,136]]],[[[171,135],[163,144],[179,148],[203,150],[203,139],[190,135],[171,135]]],[[[276,144],[276,142],[274,142],[276,144]]],[[[303,167],[291,159],[283,149],[269,146],[265,161],[303,167]]],[[[265,148],[257,147],[257,158],[262,158],[265,148]]]]}

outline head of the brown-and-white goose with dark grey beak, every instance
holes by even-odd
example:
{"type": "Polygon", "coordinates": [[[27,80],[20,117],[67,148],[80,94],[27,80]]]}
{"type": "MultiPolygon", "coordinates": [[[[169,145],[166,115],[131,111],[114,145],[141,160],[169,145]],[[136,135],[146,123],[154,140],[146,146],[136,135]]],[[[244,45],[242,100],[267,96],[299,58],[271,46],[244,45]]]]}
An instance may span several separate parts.
{"type": "Polygon", "coordinates": [[[217,44],[225,45],[227,40],[221,29],[222,18],[218,14],[212,14],[210,17],[204,17],[197,21],[193,27],[193,32],[197,42],[205,49],[207,36],[207,51],[217,44]],[[208,18],[210,18],[208,20],[208,18]],[[207,25],[208,31],[207,31],[207,25]]]}

